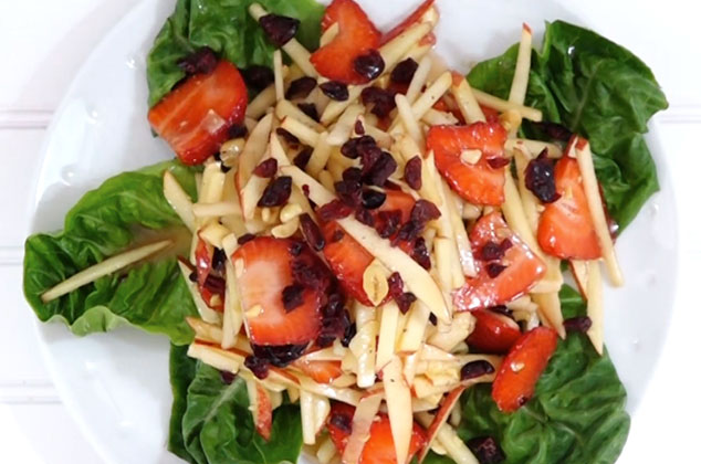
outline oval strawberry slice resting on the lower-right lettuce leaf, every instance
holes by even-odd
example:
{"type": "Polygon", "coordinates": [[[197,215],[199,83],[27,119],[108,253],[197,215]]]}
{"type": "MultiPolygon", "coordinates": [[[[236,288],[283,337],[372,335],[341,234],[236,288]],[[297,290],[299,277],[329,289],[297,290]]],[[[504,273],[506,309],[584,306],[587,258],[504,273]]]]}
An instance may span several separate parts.
{"type": "Polygon", "coordinates": [[[535,392],[535,384],[557,348],[557,333],[536,327],[521,336],[504,358],[492,384],[492,398],[500,410],[513,412],[535,392]]]}

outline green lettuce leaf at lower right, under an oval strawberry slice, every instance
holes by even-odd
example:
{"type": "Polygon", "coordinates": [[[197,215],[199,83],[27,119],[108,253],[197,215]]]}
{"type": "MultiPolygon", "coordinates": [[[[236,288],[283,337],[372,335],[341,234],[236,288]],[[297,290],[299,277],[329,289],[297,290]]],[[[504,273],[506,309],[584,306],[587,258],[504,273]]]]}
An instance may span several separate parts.
{"type": "MultiPolygon", "coordinates": [[[[574,289],[565,287],[561,297],[566,317],[583,314],[574,289]]],[[[580,334],[559,341],[534,398],[519,411],[500,412],[488,384],[470,389],[461,402],[460,437],[495,436],[505,464],[611,464],[630,428],[626,390],[610,358],[580,334]]]]}

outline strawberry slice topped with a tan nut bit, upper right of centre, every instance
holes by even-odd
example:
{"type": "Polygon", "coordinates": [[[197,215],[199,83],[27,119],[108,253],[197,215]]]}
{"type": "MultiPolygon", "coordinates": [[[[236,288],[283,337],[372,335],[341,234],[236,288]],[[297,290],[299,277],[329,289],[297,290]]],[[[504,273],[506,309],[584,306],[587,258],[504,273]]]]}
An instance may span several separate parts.
{"type": "Polygon", "coordinates": [[[469,126],[433,126],[428,131],[427,146],[433,150],[436,167],[453,190],[475,204],[500,205],[504,202],[505,168],[493,168],[491,158],[504,152],[506,130],[494,123],[469,126]],[[470,165],[461,160],[464,150],[481,150],[480,160],[470,165]]]}

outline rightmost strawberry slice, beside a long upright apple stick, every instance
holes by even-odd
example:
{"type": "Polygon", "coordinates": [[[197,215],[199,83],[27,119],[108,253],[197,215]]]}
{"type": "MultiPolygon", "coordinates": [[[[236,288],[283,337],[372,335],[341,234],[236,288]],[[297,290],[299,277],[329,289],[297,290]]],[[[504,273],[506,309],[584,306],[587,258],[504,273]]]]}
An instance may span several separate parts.
{"type": "Polygon", "coordinates": [[[555,189],[561,197],[545,207],[538,224],[543,251],[563,260],[601,257],[576,159],[563,157],[557,161],[555,189]]]}

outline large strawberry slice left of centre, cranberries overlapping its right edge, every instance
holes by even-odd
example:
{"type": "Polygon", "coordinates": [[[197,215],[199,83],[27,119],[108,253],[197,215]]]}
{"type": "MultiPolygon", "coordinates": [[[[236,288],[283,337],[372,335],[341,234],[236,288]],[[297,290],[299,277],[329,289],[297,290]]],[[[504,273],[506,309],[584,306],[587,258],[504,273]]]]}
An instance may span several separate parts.
{"type": "Polygon", "coordinates": [[[316,257],[299,242],[269,236],[245,242],[233,254],[236,265],[242,266],[237,282],[252,344],[301,345],[318,335],[322,289],[305,287],[302,303],[289,312],[283,304],[283,291],[294,284],[292,265],[301,260],[316,257]],[[291,249],[300,246],[294,256],[291,249]]]}

